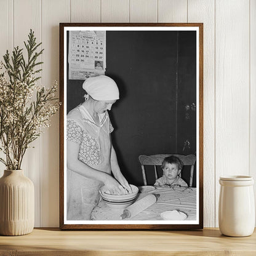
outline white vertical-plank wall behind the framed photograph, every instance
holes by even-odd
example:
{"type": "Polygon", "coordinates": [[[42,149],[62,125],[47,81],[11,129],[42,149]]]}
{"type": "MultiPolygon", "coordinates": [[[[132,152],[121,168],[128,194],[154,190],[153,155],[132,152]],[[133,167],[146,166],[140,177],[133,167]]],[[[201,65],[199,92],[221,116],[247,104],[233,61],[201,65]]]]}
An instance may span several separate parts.
{"type": "MultiPolygon", "coordinates": [[[[32,28],[42,79],[58,81],[60,22],[204,23],[204,226],[218,226],[218,178],[256,178],[256,0],[0,0],[0,56],[32,28]]],[[[36,226],[58,226],[58,114],[26,153],[36,226]]],[[[0,166],[0,174],[4,166],[0,166]]]]}

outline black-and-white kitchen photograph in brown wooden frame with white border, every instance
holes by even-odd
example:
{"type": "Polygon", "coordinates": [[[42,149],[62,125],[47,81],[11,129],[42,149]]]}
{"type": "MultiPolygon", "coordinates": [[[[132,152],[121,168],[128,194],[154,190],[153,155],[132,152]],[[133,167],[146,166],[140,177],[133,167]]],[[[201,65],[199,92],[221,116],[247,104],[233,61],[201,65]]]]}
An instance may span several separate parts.
{"type": "Polygon", "coordinates": [[[203,228],[202,23],[60,23],[60,228],[203,228]]]}

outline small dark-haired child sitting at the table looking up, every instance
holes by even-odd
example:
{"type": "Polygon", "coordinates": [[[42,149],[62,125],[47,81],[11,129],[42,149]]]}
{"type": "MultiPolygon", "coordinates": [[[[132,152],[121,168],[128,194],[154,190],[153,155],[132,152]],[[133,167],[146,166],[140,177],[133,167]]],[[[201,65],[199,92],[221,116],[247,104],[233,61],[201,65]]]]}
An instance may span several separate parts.
{"type": "Polygon", "coordinates": [[[163,175],[158,178],[154,183],[154,186],[164,186],[164,185],[179,185],[188,186],[182,178],[180,178],[180,172],[182,171],[182,161],[176,156],[168,156],[162,161],[162,171],[163,175]]]}

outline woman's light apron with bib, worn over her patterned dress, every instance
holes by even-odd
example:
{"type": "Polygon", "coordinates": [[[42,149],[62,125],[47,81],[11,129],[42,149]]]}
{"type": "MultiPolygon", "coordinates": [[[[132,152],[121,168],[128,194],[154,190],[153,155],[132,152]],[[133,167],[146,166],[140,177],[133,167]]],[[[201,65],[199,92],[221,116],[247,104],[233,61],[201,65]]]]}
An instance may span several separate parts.
{"type": "MultiPolygon", "coordinates": [[[[110,174],[111,124],[107,112],[99,114],[99,118],[100,126],[97,126],[82,105],[70,111],[67,116],[67,120],[75,121],[82,129],[78,159],[96,170],[110,174]]],[[[100,201],[99,190],[103,183],[70,169],[67,169],[66,174],[66,219],[90,220],[92,210],[100,201]]]]}

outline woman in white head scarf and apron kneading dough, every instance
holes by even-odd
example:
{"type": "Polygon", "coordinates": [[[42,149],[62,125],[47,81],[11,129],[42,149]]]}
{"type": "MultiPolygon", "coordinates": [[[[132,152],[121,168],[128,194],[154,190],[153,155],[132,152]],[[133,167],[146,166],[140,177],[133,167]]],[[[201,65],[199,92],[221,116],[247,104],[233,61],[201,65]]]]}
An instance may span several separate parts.
{"type": "Polygon", "coordinates": [[[67,220],[90,220],[102,186],[111,194],[130,192],[111,143],[108,110],[119,99],[118,86],[108,76],[97,76],[88,78],[82,88],[84,103],[66,118],[67,220]]]}

